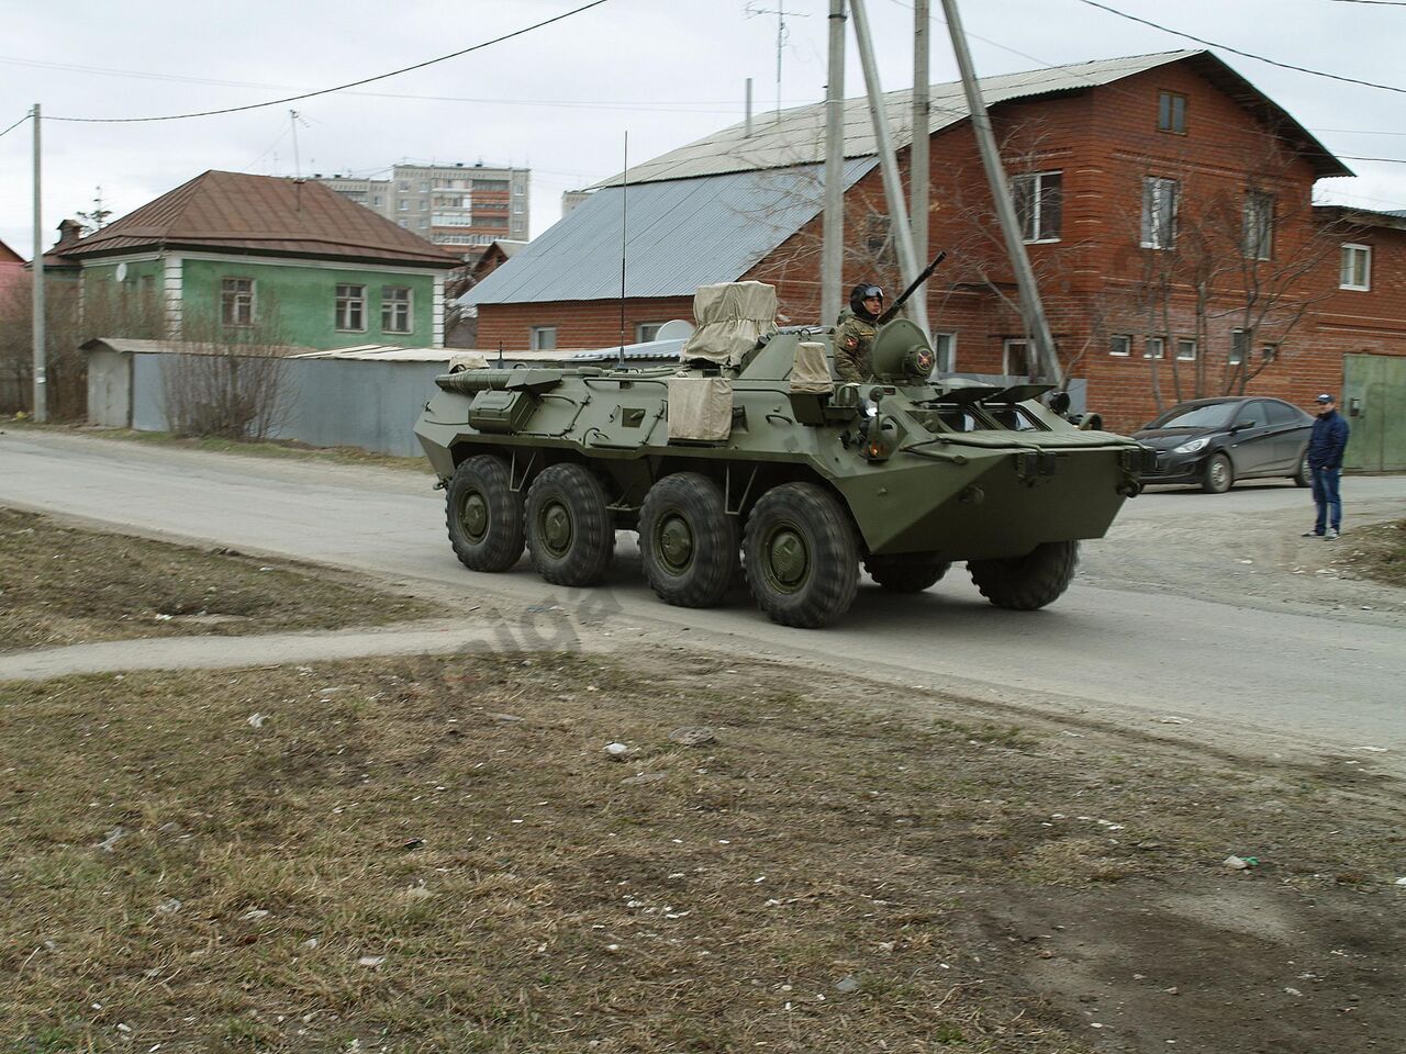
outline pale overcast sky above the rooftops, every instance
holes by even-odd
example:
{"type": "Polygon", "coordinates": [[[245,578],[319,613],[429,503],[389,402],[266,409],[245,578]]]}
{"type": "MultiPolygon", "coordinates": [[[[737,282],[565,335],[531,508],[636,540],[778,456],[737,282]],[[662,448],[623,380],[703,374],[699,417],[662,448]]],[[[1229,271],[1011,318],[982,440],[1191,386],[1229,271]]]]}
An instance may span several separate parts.
{"type": "MultiPolygon", "coordinates": [[[[396,162],[531,169],[531,232],[561,194],[630,159],[682,146],[776,107],[778,8],[786,11],[782,105],[824,98],[828,0],[606,0],[502,44],[350,91],[180,121],[83,124],[269,103],[470,48],[586,0],[0,0],[0,131],[38,101],[45,245],[90,211],[118,218],[207,169],[270,176],[381,176],[396,162]],[[751,13],[762,8],[765,13],[751,13]],[[298,111],[298,122],[290,110],[298,111]]],[[[1358,176],[1320,200],[1406,209],[1406,4],[1354,0],[1107,0],[1107,6],[1282,63],[1392,86],[1361,87],[1218,55],[1288,110],[1358,176]]],[[[932,0],[934,83],[956,63],[932,0]]],[[[912,8],[868,0],[883,87],[912,80],[912,8]]],[[[977,73],[1197,48],[1084,0],[965,0],[977,73]]],[[[853,44],[846,94],[863,80],[853,44]]],[[[32,250],[28,122],[0,136],[0,240],[32,250]]]]}

